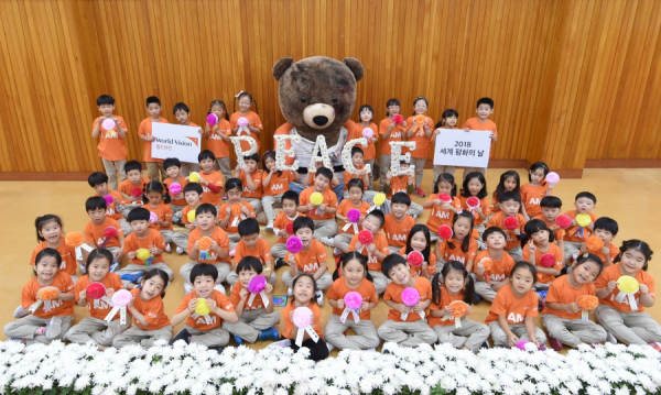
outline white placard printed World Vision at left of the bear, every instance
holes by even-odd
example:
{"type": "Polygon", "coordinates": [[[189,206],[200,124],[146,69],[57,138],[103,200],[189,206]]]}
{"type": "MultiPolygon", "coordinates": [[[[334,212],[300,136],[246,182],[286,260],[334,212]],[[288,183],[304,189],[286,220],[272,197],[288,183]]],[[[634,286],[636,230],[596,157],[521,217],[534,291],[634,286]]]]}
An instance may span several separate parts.
{"type": "Polygon", "coordinates": [[[166,160],[176,157],[181,162],[197,163],[202,135],[199,127],[184,127],[173,123],[152,123],[152,156],[166,160]]]}

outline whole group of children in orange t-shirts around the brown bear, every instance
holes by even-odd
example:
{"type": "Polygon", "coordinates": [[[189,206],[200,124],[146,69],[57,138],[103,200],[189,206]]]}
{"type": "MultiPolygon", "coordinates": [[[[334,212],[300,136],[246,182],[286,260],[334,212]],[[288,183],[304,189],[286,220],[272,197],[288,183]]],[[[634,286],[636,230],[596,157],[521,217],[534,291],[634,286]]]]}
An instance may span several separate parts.
{"type": "MultiPolygon", "coordinates": [[[[249,94],[238,99],[238,113],[247,117],[253,100],[249,94]]],[[[399,102],[393,100],[388,102],[390,123],[381,122],[384,143],[409,133],[405,122],[393,125],[392,116],[399,113],[399,102]],[[398,128],[399,136],[394,135],[398,128]]],[[[184,124],[188,110],[185,105],[177,106],[175,116],[184,124]]],[[[106,118],[113,117],[112,108],[108,102],[99,105],[106,118]]],[[[418,98],[414,109],[424,114],[426,99],[418,98]]],[[[164,121],[158,100],[148,99],[148,110],[151,121],[164,121]]],[[[359,111],[362,127],[371,122],[369,110],[364,106],[359,111]]],[[[210,112],[221,119],[225,105],[212,102],[210,112]]],[[[478,102],[477,112],[477,122],[488,121],[492,102],[478,102]]],[[[381,340],[409,347],[449,342],[475,351],[488,347],[489,336],[494,345],[500,347],[524,340],[543,348],[549,340],[560,350],[563,344],[620,340],[659,348],[661,327],[644,312],[654,304],[654,282],[647,273],[652,255],[649,245],[629,240],[615,246],[618,224],[593,212],[596,197],[587,191],[577,194],[575,210],[561,218],[562,201],[553,196],[554,185],[546,182],[544,163],[531,166],[525,185],[517,172],[505,172],[491,199],[484,169],[474,168],[465,169],[460,188],[454,168],[435,168],[433,194],[422,206],[411,196],[414,191],[424,195],[418,190],[422,180],[418,172],[415,177],[382,174],[388,205],[379,207],[364,199],[373,183],[367,174],[345,177],[346,195],[338,199],[333,191],[336,176],[323,166],[305,177],[310,186],[299,195],[289,190],[289,183],[299,180],[299,174],[275,169],[273,153],[263,156],[266,172],[258,169],[260,156],[254,154],[245,157],[245,167],[237,167],[232,177],[227,153],[218,157],[210,151],[210,135],[217,130],[221,135],[215,143],[225,146],[226,138],[236,133],[235,114],[229,122],[201,130],[209,135],[209,150],[199,154],[196,165],[176,158],[150,162],[145,152],[150,178],[142,177],[141,164],[131,161],[123,164],[127,178],[117,188],[108,175],[93,173],[88,183],[96,195],[86,201],[90,221],[84,231],[85,244],[74,245],[68,235],[65,240],[57,216],[37,218],[41,243],[30,261],[35,277],[23,288],[17,320],[6,326],[6,334],[25,343],[65,339],[91,341],[99,348],[149,347],[165,339],[218,350],[231,336],[236,344],[277,340],[274,344],[295,350],[307,347],[314,360],[326,358],[333,348],[376,349],[381,340]],[[162,183],[161,166],[167,176],[162,183]],[[319,196],[321,202],[316,200],[319,196]],[[281,207],[277,216],[274,205],[281,207]],[[426,224],[412,217],[423,209],[430,210],[426,224]],[[274,245],[260,235],[260,213],[266,231],[278,237],[274,245]],[[181,229],[174,232],[173,223],[181,229]],[[290,245],[292,241],[299,242],[299,248],[290,245]],[[163,256],[172,251],[172,244],[191,262],[180,271],[186,296],[170,318],[164,314],[163,296],[174,273],[163,256]],[[333,260],[324,244],[334,248],[334,271],[328,267],[333,260]],[[120,267],[124,257],[128,264],[120,267]],[[273,289],[282,266],[289,266],[281,271],[280,281],[289,287],[290,300],[278,312],[273,289]],[[263,282],[259,289],[251,285],[258,281],[263,282]],[[637,287],[626,286],[632,282],[637,287]],[[94,283],[104,285],[101,296],[89,295],[94,283]],[[229,297],[223,283],[230,285],[229,297]],[[113,296],[122,289],[131,294],[126,306],[132,317],[130,327],[131,319],[122,319],[121,311],[112,315],[117,307],[113,296]],[[586,296],[598,303],[581,303],[586,296]],[[377,328],[370,310],[380,297],[390,311],[377,328]],[[467,318],[470,306],[480,299],[491,303],[484,323],[467,318]],[[319,306],[325,300],[333,315],[324,329],[319,306]],[[72,327],[74,304],[87,306],[89,317],[72,327]],[[301,319],[294,316],[301,307],[311,316],[308,326],[300,328],[294,322],[301,319]],[[593,311],[598,323],[587,319],[593,311]],[[539,314],[549,338],[534,326],[539,314]],[[279,333],[274,327],[281,319],[285,329],[279,333]],[[184,329],[172,337],[172,328],[184,321],[184,329]],[[347,334],[348,328],[356,334],[347,334]],[[302,342],[295,341],[297,338],[302,342]]],[[[446,111],[443,127],[454,127],[457,116],[446,111]]],[[[117,135],[126,135],[123,120],[112,119],[119,128],[117,135]]],[[[95,121],[97,133],[100,121],[95,121]]],[[[409,140],[420,141],[419,145],[426,142],[427,149],[437,134],[431,132],[429,121],[422,134],[407,134],[409,140]]],[[[251,122],[250,133],[259,133],[259,117],[251,122]]],[[[141,139],[150,141],[151,122],[143,124],[141,139]]],[[[468,129],[484,130],[484,125],[468,129]]],[[[492,133],[496,141],[495,125],[492,133]]],[[[382,144],[382,150],[387,146],[382,144]]],[[[367,152],[369,149],[355,149],[355,164],[373,161],[365,156],[367,152]]],[[[416,155],[412,162],[422,169],[422,162],[416,161],[426,154],[416,155]]],[[[387,156],[381,155],[382,173],[387,156]]],[[[400,165],[405,168],[409,163],[400,165]]],[[[382,350],[388,351],[388,343],[382,350]]]]}

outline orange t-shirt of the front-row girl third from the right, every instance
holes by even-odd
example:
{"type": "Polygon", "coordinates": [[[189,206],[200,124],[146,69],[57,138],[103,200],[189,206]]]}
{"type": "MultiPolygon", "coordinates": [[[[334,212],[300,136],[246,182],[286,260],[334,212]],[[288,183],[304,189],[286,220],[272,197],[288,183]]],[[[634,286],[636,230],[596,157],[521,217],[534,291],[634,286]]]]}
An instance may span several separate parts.
{"type": "Polygon", "coordinates": [[[508,323],[521,325],[525,321],[525,317],[539,316],[538,304],[539,299],[534,290],[530,289],[523,297],[517,297],[512,293],[511,284],[508,284],[496,294],[485,323],[498,321],[498,316],[505,316],[508,323]]]}

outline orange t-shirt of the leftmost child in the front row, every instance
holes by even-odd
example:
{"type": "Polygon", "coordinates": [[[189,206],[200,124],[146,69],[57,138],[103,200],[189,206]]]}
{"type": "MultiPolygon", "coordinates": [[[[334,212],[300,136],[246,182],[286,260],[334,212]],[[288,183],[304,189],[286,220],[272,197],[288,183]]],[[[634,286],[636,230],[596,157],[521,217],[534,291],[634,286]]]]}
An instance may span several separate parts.
{"type": "MultiPolygon", "coordinates": [[[[28,309],[30,305],[37,300],[37,292],[46,286],[59,289],[61,294],[74,292],[74,282],[72,281],[71,275],[62,271],[55,273],[55,276],[53,277],[53,283],[51,283],[51,285],[41,285],[36,281],[36,277],[32,277],[28,282],[28,284],[25,284],[25,286],[23,287],[23,292],[21,293],[21,306],[24,309],[28,309]]],[[[45,305],[45,301],[42,303],[39,309],[36,309],[36,311],[34,311],[32,315],[39,318],[63,317],[74,315],[74,300],[50,300],[51,309],[48,311],[44,309],[45,305]]]]}

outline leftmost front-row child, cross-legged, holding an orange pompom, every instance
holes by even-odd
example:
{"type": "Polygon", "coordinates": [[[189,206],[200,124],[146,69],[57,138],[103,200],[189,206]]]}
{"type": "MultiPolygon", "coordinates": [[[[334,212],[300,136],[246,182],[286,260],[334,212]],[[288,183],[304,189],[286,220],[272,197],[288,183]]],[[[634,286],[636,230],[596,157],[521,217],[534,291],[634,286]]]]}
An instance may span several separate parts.
{"type": "Polygon", "coordinates": [[[64,337],[74,320],[74,282],[59,270],[61,264],[62,256],[54,249],[36,254],[34,277],[23,287],[21,306],[14,311],[18,319],[4,326],[4,336],[28,345],[48,344],[64,337]],[[58,295],[37,306],[42,288],[56,288],[58,295]]]}

